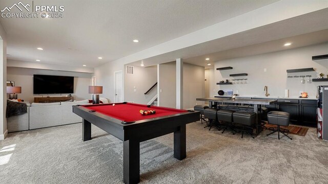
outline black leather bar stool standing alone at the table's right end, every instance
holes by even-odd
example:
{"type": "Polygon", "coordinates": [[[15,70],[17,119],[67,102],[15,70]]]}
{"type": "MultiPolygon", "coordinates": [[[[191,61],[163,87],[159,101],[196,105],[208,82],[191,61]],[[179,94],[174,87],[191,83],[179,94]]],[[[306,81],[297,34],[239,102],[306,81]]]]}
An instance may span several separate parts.
{"type": "Polygon", "coordinates": [[[269,130],[272,132],[268,133],[267,135],[271,135],[275,132],[278,132],[278,140],[280,140],[280,134],[282,133],[289,139],[293,140],[289,137],[286,133],[289,133],[289,130],[280,128],[280,126],[289,126],[289,119],[290,114],[288,112],[281,112],[281,111],[271,111],[268,113],[268,124],[277,125],[277,128],[271,127],[269,130]]]}

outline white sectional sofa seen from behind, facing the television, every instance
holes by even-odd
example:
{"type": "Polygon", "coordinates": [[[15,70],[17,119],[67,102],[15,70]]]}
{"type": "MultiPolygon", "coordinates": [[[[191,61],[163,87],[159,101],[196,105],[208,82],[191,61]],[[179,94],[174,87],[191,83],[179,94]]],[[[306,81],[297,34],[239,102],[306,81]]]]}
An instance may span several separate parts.
{"type": "Polygon", "coordinates": [[[28,104],[27,113],[7,118],[8,132],[82,122],[82,118],[73,113],[72,105],[84,104],[89,104],[89,100],[28,104]]]}

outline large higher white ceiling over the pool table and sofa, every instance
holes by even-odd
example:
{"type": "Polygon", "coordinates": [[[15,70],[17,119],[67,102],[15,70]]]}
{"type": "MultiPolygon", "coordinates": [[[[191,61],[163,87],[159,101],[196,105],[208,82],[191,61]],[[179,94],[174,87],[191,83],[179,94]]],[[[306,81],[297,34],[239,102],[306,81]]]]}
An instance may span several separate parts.
{"type": "MultiPolygon", "coordinates": [[[[8,59],[95,67],[277,1],[51,1],[51,5],[65,6],[64,18],[0,21],[7,32],[8,59]],[[99,56],[103,59],[98,60],[99,56]]],[[[14,3],[1,0],[0,9],[14,3]]],[[[34,0],[34,5],[50,4],[34,0]]]]}

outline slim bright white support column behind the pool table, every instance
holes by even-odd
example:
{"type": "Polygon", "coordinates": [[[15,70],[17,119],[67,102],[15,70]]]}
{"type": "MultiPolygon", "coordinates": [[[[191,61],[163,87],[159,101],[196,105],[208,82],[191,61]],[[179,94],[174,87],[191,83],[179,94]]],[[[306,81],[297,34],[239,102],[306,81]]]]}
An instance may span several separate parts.
{"type": "Polygon", "coordinates": [[[183,61],[176,59],[176,108],[183,108],[183,61]]]}

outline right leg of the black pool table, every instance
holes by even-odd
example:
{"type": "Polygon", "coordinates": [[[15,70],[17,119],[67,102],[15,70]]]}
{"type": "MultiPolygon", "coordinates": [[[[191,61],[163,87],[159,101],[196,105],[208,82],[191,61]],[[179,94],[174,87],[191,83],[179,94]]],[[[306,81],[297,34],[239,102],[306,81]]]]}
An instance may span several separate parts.
{"type": "Polygon", "coordinates": [[[182,160],[186,158],[186,124],[181,125],[174,132],[174,158],[182,160]]]}

